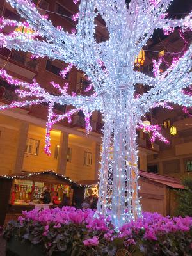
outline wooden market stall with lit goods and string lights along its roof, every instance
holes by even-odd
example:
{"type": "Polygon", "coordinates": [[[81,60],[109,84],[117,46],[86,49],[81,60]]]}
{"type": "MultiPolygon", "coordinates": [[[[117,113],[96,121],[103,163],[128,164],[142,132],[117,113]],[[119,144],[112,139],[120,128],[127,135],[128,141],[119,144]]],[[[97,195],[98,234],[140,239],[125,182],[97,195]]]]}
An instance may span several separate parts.
{"type": "Polygon", "coordinates": [[[63,196],[70,198],[70,205],[77,200],[83,202],[84,188],[85,186],[50,170],[1,175],[0,225],[17,219],[24,210],[47,207],[42,204],[45,191],[51,194],[50,207],[56,207],[63,200],[63,196]]]}

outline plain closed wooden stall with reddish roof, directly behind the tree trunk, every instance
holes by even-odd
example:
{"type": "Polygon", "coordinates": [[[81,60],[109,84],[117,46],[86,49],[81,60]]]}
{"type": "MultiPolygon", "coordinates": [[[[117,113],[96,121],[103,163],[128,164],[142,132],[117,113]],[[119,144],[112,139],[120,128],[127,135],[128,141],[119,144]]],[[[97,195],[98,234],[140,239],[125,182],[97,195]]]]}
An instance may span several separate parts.
{"type": "MultiPolygon", "coordinates": [[[[173,216],[177,206],[175,190],[185,189],[180,180],[156,173],[139,171],[141,190],[141,205],[143,211],[159,212],[163,216],[173,216]]],[[[98,180],[81,180],[81,184],[97,184],[98,180]]],[[[86,193],[92,195],[94,186],[86,188],[86,193]]]]}

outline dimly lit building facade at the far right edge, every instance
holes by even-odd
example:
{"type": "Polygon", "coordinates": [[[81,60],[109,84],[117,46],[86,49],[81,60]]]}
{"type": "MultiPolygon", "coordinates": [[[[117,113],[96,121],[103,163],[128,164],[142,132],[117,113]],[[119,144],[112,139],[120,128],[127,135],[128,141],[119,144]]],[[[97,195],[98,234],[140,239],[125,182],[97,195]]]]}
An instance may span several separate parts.
{"type": "MultiPolygon", "coordinates": [[[[184,39],[180,36],[178,30],[175,30],[169,36],[164,36],[160,42],[148,45],[148,65],[144,71],[152,75],[152,63],[150,60],[156,59],[158,52],[168,52],[166,60],[172,62],[174,53],[183,54],[185,47],[192,42],[192,33],[185,33],[184,39]]],[[[166,70],[166,65],[161,65],[161,72],[166,70]]],[[[189,110],[190,111],[190,110],[189,110]]],[[[161,126],[163,136],[168,138],[170,144],[166,145],[158,142],[159,153],[147,156],[148,172],[159,173],[170,177],[182,179],[192,174],[192,118],[182,111],[182,107],[173,106],[173,110],[155,108],[151,111],[149,119],[152,124],[161,126]],[[175,126],[177,132],[170,134],[170,127],[175,126]]]]}

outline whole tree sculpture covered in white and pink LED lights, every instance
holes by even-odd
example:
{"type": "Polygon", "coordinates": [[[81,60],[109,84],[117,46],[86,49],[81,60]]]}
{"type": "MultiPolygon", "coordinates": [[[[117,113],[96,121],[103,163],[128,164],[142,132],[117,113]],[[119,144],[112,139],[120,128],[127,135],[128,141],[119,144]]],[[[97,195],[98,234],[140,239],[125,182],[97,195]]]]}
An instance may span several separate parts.
{"type": "MultiPolygon", "coordinates": [[[[136,129],[150,131],[151,141],[166,139],[157,125],[147,125],[141,121],[147,111],[156,106],[170,108],[167,103],[192,106],[191,95],[184,89],[191,84],[191,46],[180,58],[163,73],[159,64],[154,63],[155,77],[149,77],[134,69],[134,60],[147,44],[154,29],[182,31],[191,29],[191,15],[181,20],[166,18],[165,12],[171,0],[132,0],[129,8],[124,0],[81,0],[76,31],[65,32],[55,28],[47,17],[40,15],[35,4],[29,0],[8,0],[26,22],[1,19],[1,28],[13,27],[13,33],[1,33],[2,47],[22,49],[36,57],[47,56],[69,63],[61,72],[65,77],[72,65],[83,70],[89,77],[95,93],[86,97],[67,93],[67,84],[61,86],[52,82],[58,95],[46,92],[36,81],[25,83],[14,80],[4,70],[1,76],[10,84],[20,86],[17,93],[20,102],[0,106],[0,109],[22,107],[28,104],[49,102],[49,116],[45,152],[50,154],[50,131],[52,125],[63,118],[70,121],[72,114],[81,110],[85,115],[86,131],[91,131],[90,116],[94,110],[102,111],[104,116],[104,136],[100,169],[99,202],[97,214],[111,215],[116,227],[141,216],[138,198],[138,151],[136,129]],[[95,17],[98,13],[104,19],[109,39],[99,44],[95,41],[95,17]],[[20,29],[32,29],[23,36],[20,29]],[[149,86],[143,95],[136,95],[136,84],[149,86]],[[28,97],[26,100],[25,97],[28,97]],[[56,115],[54,103],[68,104],[74,109],[63,115],[56,115]]],[[[74,3],[79,2],[74,0],[74,3]]]]}

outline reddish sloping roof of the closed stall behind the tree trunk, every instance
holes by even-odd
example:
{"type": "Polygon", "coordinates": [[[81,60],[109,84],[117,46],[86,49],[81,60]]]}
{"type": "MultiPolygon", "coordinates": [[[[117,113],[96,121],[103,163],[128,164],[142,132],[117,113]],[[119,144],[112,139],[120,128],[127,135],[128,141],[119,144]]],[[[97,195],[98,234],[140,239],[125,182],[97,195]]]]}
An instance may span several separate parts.
{"type": "MultiPolygon", "coordinates": [[[[145,172],[145,171],[139,171],[140,177],[144,177],[148,180],[152,180],[157,183],[164,184],[166,186],[169,186],[171,188],[177,188],[177,189],[185,189],[185,186],[181,184],[179,179],[168,177],[164,175],[159,175],[156,173],[151,172],[145,172]]],[[[80,180],[79,183],[83,185],[91,185],[91,184],[97,184],[99,180],[80,180]]]]}

